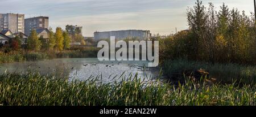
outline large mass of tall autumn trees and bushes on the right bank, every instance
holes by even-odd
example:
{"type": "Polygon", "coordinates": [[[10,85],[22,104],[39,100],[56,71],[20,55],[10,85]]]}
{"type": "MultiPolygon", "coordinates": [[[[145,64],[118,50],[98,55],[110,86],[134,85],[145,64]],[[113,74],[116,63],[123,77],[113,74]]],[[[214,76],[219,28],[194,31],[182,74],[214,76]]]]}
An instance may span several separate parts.
{"type": "Polygon", "coordinates": [[[188,58],[212,63],[256,63],[254,14],[225,3],[220,11],[212,3],[205,7],[197,0],[187,10],[189,29],[160,41],[160,58],[188,58]]]}

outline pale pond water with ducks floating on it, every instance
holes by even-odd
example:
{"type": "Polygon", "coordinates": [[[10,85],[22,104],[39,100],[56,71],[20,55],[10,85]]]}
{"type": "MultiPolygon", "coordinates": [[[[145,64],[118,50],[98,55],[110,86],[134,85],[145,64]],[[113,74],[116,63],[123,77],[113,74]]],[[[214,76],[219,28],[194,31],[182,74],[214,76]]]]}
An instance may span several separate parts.
{"type": "Polygon", "coordinates": [[[89,77],[100,76],[104,82],[121,80],[119,77],[130,75],[141,79],[150,80],[159,76],[158,68],[143,67],[147,62],[142,61],[109,61],[100,62],[97,58],[67,58],[40,60],[36,62],[20,62],[0,64],[0,73],[27,71],[40,72],[43,75],[55,75],[57,77],[68,77],[69,80],[86,80],[89,77]]]}

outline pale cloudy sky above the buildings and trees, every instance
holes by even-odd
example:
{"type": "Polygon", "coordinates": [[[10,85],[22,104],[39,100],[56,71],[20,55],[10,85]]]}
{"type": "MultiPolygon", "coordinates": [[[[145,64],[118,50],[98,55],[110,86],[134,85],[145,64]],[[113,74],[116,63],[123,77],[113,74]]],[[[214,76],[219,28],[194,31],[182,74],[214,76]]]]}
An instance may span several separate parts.
{"type": "MultiPolygon", "coordinates": [[[[83,36],[95,31],[126,29],[150,30],[167,35],[188,28],[187,8],[196,0],[0,0],[0,13],[25,14],[25,18],[49,16],[49,27],[81,25],[83,36]]],[[[253,0],[206,0],[219,10],[222,3],[230,9],[254,11],[253,0]]]]}

